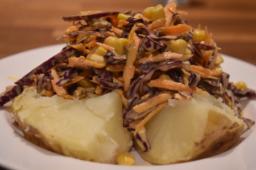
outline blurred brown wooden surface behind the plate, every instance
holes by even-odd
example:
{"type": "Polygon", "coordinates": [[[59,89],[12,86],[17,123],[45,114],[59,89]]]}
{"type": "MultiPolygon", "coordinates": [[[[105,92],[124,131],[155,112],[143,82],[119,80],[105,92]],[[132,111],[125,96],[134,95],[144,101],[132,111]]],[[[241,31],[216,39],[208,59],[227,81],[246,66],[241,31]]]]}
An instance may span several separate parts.
{"type": "MultiPolygon", "coordinates": [[[[79,11],[143,11],[155,0],[0,0],[0,58],[40,46],[59,44],[71,23],[60,16],[79,11]]],[[[207,25],[221,53],[256,65],[255,0],[191,0],[179,10],[193,27],[207,25]]],[[[1,62],[1,60],[0,60],[1,62]]]]}

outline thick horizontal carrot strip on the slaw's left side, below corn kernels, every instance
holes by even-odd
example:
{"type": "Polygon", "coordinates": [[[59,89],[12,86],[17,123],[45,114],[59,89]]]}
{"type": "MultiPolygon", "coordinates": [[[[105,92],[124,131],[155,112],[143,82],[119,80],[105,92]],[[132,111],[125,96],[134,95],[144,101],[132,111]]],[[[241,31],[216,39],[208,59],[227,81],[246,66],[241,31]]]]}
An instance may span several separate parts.
{"type": "Polygon", "coordinates": [[[105,65],[102,63],[97,63],[95,61],[90,61],[86,59],[84,56],[77,57],[70,57],[68,58],[68,66],[70,67],[96,67],[96,68],[103,68],[105,65]]]}

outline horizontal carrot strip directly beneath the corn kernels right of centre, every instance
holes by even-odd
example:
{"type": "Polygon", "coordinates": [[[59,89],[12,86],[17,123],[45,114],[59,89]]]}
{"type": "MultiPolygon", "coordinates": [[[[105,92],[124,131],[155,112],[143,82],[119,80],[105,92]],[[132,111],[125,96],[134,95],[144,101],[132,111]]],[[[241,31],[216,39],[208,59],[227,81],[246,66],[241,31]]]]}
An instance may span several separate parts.
{"type": "Polygon", "coordinates": [[[139,59],[138,63],[159,62],[159,61],[165,61],[167,59],[180,59],[181,57],[182,57],[182,54],[164,52],[164,53],[157,54],[157,55],[150,54],[149,56],[139,59]]]}

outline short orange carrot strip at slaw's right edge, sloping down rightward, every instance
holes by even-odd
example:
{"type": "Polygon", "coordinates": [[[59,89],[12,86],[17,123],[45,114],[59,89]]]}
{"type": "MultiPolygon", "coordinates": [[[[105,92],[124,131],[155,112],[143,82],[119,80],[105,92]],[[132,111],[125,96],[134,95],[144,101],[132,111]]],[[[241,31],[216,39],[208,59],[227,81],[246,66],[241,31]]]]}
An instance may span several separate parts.
{"type": "Polygon", "coordinates": [[[202,66],[196,65],[191,65],[189,70],[194,71],[197,74],[200,74],[203,78],[206,78],[205,76],[210,76],[216,79],[216,76],[220,76],[222,73],[221,71],[210,70],[202,66]]]}

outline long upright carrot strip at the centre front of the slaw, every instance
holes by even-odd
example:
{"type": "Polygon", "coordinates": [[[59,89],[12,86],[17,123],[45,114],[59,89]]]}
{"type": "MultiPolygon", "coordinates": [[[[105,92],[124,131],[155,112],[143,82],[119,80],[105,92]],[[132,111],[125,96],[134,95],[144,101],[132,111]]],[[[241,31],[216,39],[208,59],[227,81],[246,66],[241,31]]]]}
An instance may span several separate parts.
{"type": "Polygon", "coordinates": [[[127,91],[127,89],[130,87],[131,79],[133,78],[135,73],[135,66],[133,66],[133,63],[138,53],[139,41],[140,39],[138,37],[134,37],[134,39],[130,41],[131,46],[127,54],[125,69],[123,70],[123,80],[125,82],[125,91],[127,91]]]}

